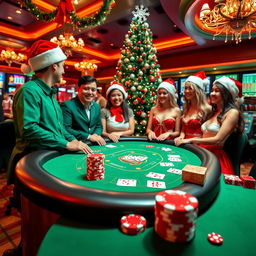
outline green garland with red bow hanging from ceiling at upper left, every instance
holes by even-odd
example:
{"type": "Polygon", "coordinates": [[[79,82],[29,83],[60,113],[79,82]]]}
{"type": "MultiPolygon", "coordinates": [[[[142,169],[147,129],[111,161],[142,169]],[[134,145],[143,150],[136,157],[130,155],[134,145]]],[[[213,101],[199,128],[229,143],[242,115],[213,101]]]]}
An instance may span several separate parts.
{"type": "Polygon", "coordinates": [[[58,7],[52,12],[40,10],[32,3],[32,0],[20,2],[21,7],[25,7],[37,20],[50,22],[56,19],[58,23],[70,22],[78,28],[100,25],[105,21],[114,4],[115,0],[103,0],[103,5],[96,13],[89,17],[80,18],[76,15],[71,0],[61,0],[58,7]]]}

